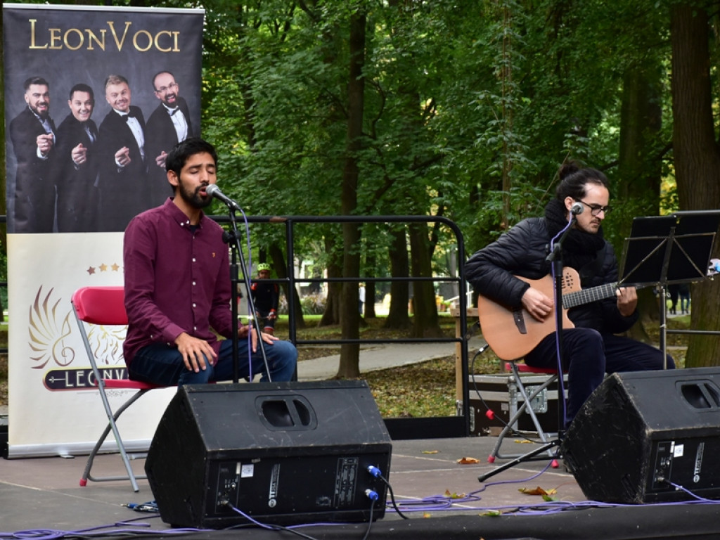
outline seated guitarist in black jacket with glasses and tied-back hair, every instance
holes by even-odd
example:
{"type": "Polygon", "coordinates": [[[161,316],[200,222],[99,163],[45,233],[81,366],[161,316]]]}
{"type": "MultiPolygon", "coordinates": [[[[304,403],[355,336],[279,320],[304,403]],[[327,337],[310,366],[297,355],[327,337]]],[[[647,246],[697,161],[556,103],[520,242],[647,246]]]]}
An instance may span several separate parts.
{"type": "MultiPolygon", "coordinates": [[[[546,258],[551,241],[567,226],[574,204],[579,209],[579,203],[582,211],[562,242],[564,267],[577,271],[582,289],[618,280],[617,258],[600,227],[611,210],[606,176],[593,168],[578,168],[575,163],[567,163],[560,169],[559,177],[556,198],[545,207],[544,217],[519,222],[498,240],[474,253],[465,265],[467,280],[483,297],[508,312],[518,310],[528,324],[548,323],[547,335],[524,354],[528,366],[557,367],[552,290],[543,292],[528,280],[544,279],[550,274],[552,264],[546,258]]],[[[575,328],[564,328],[562,332],[569,387],[566,424],[570,424],[585,400],[603,382],[604,374],[662,369],[664,364],[662,351],[657,348],[616,336],[628,330],[638,318],[637,292],[634,287],[610,290],[608,298],[588,301],[567,312],[575,328]]],[[[509,320],[513,320],[512,316],[509,320]]],[[[482,314],[480,323],[485,332],[482,314]]],[[[515,325],[505,326],[508,334],[504,339],[521,338],[515,325]]],[[[485,338],[490,342],[488,336],[485,338]]],[[[667,367],[675,367],[670,356],[667,367]]]]}

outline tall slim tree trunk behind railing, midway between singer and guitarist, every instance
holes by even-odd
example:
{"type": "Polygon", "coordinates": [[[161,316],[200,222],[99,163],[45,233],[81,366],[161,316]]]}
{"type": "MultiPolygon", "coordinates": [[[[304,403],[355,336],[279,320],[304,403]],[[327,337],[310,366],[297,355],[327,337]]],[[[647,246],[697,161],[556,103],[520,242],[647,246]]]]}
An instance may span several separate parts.
{"type": "MultiPolygon", "coordinates": [[[[359,166],[357,153],[361,149],[364,114],[365,79],[362,69],[365,60],[365,14],[354,13],[350,17],[350,73],[348,77],[348,138],[341,207],[343,215],[353,215],[357,208],[359,166]]],[[[343,223],[343,277],[360,274],[360,225],[343,223]]],[[[340,325],[343,339],[359,339],[360,313],[358,309],[358,283],[343,283],[343,305],[340,325]]],[[[343,343],[340,347],[338,379],[360,377],[360,344],[343,343]]]]}

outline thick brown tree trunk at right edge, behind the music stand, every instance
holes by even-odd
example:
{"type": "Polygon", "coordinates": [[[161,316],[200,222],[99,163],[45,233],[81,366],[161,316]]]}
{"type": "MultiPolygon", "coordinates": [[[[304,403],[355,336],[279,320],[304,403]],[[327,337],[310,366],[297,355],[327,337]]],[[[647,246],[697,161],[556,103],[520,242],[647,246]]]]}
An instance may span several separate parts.
{"type": "MultiPolygon", "coordinates": [[[[672,44],[672,145],[678,199],[683,210],[720,207],[720,152],[714,137],[708,47],[708,14],[693,4],[670,12],[672,44]]],[[[715,243],[715,255],[720,251],[715,243]]],[[[693,285],[690,326],[718,330],[720,280],[693,285]]],[[[685,366],[720,364],[720,337],[690,336],[685,366]]]]}

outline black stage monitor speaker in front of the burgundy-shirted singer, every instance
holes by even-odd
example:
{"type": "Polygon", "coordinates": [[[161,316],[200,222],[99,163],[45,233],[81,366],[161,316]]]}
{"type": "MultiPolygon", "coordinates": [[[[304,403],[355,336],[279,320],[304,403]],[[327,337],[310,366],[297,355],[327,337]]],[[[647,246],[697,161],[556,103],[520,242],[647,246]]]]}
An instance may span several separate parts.
{"type": "Polygon", "coordinates": [[[145,472],[172,526],[369,521],[391,451],[364,381],[202,384],[169,403],[145,472]]]}

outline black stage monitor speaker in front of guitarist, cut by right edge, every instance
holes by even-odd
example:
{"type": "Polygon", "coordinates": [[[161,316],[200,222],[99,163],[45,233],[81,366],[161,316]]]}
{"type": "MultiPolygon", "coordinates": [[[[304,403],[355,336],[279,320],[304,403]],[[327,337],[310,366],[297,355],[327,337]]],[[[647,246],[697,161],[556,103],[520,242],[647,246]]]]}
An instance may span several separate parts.
{"type": "Polygon", "coordinates": [[[562,442],[585,496],[655,503],[692,499],[688,490],[720,498],[719,383],[718,367],[607,377],[562,442]]]}

